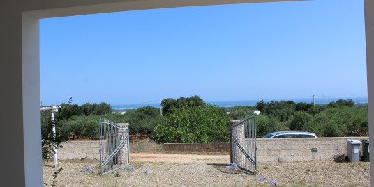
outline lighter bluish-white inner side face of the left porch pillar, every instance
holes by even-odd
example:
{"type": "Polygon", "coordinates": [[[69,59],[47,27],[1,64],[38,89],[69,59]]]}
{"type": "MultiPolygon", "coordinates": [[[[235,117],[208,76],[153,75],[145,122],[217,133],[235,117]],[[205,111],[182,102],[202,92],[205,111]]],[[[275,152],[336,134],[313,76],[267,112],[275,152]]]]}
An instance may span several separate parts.
{"type": "MultiPolygon", "coordinates": [[[[21,92],[24,143],[19,148],[24,149],[25,186],[43,186],[40,125],[39,19],[25,13],[22,13],[21,92]]],[[[22,124],[20,125],[22,126],[22,124]]]]}

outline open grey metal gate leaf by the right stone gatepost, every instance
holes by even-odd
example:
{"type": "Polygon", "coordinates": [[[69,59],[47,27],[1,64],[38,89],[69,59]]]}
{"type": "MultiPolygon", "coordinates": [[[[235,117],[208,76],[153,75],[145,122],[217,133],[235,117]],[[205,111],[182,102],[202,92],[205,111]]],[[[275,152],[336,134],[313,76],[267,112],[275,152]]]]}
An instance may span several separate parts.
{"type": "Polygon", "coordinates": [[[230,126],[230,161],[252,174],[257,172],[255,116],[233,120],[230,126]]]}

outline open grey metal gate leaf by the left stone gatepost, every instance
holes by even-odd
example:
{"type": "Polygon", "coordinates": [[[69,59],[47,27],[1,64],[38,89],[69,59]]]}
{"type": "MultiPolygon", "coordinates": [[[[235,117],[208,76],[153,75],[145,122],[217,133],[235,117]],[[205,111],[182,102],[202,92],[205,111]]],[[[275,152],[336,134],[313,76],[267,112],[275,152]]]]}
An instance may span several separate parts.
{"type": "Polygon", "coordinates": [[[100,120],[100,174],[107,174],[130,163],[128,123],[100,120]]]}

